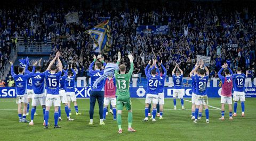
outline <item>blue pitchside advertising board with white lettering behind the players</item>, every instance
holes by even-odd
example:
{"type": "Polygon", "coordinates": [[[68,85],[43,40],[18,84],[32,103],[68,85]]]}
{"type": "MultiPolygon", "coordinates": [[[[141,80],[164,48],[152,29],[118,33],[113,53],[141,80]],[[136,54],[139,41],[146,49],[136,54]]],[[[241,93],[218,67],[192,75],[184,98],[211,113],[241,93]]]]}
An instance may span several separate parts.
{"type": "MultiPolygon", "coordinates": [[[[190,87],[184,87],[184,98],[191,98],[192,91],[190,87]]],[[[90,98],[90,87],[76,87],[75,93],[77,98],[90,98]]],[[[220,98],[221,87],[208,87],[209,98],[220,98]]],[[[146,98],[146,87],[130,87],[131,98],[146,98]]],[[[173,87],[165,87],[165,98],[172,98],[173,87]]],[[[0,98],[15,98],[14,87],[0,87],[0,98]]],[[[256,98],[256,87],[245,88],[246,98],[256,98]]]]}

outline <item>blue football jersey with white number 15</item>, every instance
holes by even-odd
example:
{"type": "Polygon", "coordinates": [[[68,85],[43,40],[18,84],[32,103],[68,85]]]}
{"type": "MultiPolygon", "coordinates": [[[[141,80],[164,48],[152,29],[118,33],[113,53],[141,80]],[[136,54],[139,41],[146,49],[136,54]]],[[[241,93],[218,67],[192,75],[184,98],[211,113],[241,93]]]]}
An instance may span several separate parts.
{"type": "Polygon", "coordinates": [[[49,70],[45,71],[45,81],[46,81],[46,93],[47,94],[59,94],[60,88],[60,76],[61,72],[51,74],[49,70]]]}

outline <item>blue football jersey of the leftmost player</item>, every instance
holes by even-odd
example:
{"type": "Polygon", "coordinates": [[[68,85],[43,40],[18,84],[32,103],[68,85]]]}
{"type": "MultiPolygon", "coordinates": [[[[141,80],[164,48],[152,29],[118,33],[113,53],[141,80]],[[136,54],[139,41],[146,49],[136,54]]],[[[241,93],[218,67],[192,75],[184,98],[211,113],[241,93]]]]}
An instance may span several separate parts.
{"type": "Polygon", "coordinates": [[[15,82],[15,93],[17,95],[23,95],[27,93],[27,79],[29,75],[15,74],[13,71],[13,65],[11,66],[11,74],[15,82]]]}

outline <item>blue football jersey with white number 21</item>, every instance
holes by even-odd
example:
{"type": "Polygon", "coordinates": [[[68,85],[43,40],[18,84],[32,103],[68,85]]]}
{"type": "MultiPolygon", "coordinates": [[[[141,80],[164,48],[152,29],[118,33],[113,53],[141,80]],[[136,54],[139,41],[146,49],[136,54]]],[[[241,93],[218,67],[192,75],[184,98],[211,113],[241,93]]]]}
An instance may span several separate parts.
{"type": "Polygon", "coordinates": [[[209,79],[209,75],[205,75],[204,77],[195,75],[195,78],[196,78],[196,94],[207,95],[207,82],[209,79]]]}

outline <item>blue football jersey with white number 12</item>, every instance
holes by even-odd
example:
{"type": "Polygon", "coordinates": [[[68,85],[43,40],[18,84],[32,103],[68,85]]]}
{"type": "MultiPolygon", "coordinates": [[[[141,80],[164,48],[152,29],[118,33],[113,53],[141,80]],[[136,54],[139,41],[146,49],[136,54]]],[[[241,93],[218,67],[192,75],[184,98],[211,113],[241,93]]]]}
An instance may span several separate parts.
{"type": "Polygon", "coordinates": [[[234,74],[233,75],[234,91],[244,92],[245,78],[246,78],[245,74],[234,74]]]}

